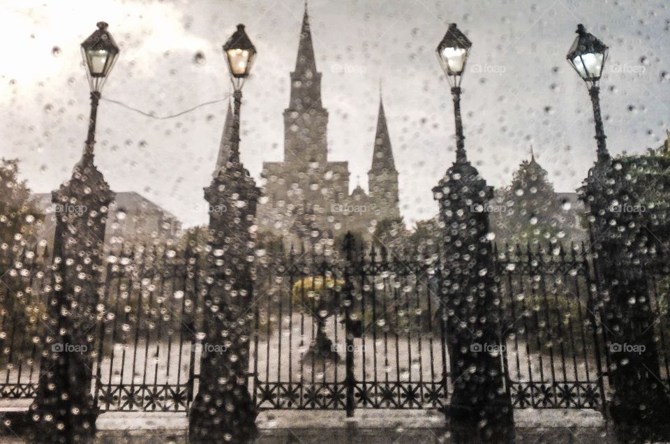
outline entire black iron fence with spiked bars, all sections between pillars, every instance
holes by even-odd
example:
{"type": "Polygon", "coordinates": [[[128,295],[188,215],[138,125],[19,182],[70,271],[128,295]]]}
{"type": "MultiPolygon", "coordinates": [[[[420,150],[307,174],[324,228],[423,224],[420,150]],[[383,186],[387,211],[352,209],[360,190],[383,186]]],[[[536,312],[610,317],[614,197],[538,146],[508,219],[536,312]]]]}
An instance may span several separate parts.
{"type": "MultiPolygon", "coordinates": [[[[258,408],[442,408],[451,390],[440,255],[314,250],[255,267],[250,390],[258,408]]],[[[186,411],[198,390],[205,251],[107,253],[91,393],[103,411],[186,411]]],[[[515,408],[605,410],[611,344],[586,246],[500,247],[499,353],[515,408]]],[[[0,398],[36,393],[52,291],[42,247],[0,246],[0,398]]],[[[660,378],[669,387],[669,270],[649,267],[660,378]]]]}

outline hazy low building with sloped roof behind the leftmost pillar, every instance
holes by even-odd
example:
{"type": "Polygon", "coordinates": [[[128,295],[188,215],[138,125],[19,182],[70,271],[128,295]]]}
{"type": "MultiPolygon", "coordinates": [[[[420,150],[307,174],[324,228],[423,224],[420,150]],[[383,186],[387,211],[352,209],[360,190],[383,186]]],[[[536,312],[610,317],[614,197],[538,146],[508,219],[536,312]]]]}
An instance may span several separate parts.
{"type": "MultiPolygon", "coordinates": [[[[51,201],[51,193],[36,193],[32,199],[45,215],[43,229],[38,239],[45,239],[52,245],[59,211],[85,211],[76,205],[61,209],[51,201]]],[[[177,237],[181,232],[181,222],[174,214],[159,207],[144,196],[133,191],[117,193],[110,205],[105,230],[105,244],[119,242],[147,242],[151,239],[177,237]]]]}

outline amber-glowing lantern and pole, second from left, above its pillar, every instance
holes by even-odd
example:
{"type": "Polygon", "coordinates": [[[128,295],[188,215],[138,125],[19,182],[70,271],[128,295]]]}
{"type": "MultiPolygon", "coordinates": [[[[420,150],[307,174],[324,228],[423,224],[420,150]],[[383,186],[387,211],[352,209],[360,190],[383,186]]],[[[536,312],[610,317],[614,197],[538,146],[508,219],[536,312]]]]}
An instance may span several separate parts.
{"type": "Polygon", "coordinates": [[[238,24],[237,30],[223,45],[223,54],[228,61],[230,81],[234,92],[234,114],[232,117],[232,143],[230,161],[239,162],[239,108],[242,103],[242,86],[248,77],[256,55],[256,48],[244,31],[244,24],[238,24]]]}

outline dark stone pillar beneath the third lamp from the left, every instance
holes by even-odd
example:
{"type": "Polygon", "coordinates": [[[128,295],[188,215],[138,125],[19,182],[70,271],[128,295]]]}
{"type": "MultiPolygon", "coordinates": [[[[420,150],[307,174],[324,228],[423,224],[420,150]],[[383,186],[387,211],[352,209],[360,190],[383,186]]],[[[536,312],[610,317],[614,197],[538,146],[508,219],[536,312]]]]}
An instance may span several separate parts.
{"type": "Polygon", "coordinates": [[[505,390],[500,304],[486,208],[491,187],[457,159],[433,188],[444,224],[440,245],[442,295],[454,393],[447,420],[457,442],[514,441],[512,400],[505,390]]]}

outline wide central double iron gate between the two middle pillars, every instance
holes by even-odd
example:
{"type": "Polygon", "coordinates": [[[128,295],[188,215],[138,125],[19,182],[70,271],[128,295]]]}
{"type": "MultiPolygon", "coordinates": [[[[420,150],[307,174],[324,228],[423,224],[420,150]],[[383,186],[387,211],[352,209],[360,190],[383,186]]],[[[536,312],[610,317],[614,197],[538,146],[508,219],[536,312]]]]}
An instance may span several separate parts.
{"type": "Polygon", "coordinates": [[[435,260],[350,247],[270,260],[255,304],[256,406],[441,408],[449,377],[435,260]]]}

